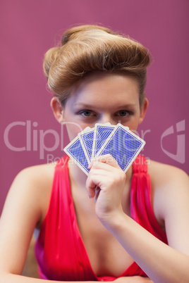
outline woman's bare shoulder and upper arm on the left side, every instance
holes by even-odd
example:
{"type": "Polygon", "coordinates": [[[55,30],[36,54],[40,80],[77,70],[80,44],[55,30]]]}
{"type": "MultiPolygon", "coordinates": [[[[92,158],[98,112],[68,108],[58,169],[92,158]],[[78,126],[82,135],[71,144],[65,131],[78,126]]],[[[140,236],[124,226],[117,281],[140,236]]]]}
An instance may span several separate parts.
{"type": "Polygon", "coordinates": [[[30,239],[47,211],[54,164],[25,168],[8,191],[0,218],[0,269],[21,274],[30,239]]]}

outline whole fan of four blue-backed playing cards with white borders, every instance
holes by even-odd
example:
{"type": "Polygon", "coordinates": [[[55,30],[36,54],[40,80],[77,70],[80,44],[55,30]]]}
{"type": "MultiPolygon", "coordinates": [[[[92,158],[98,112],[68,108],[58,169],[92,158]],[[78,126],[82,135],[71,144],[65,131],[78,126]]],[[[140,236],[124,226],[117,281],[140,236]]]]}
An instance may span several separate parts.
{"type": "Polygon", "coordinates": [[[86,127],[63,150],[88,175],[92,159],[108,153],[126,172],[144,146],[145,141],[128,127],[106,123],[86,127]]]}

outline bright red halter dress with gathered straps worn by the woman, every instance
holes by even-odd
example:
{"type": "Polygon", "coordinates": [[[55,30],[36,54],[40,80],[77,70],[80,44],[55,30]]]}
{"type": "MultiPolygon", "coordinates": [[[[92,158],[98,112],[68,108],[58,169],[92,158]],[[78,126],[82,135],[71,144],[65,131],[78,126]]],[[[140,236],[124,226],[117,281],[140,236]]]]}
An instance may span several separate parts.
{"type": "MultiPolygon", "coordinates": [[[[130,188],[130,215],[133,220],[167,244],[166,234],[159,226],[151,205],[150,176],[144,156],[133,163],[130,188]]],[[[39,277],[57,281],[111,281],[113,276],[97,277],[90,265],[78,229],[68,177],[68,156],[56,165],[47,215],[35,244],[39,277]]],[[[133,262],[120,277],[145,272],[133,262]]]]}

